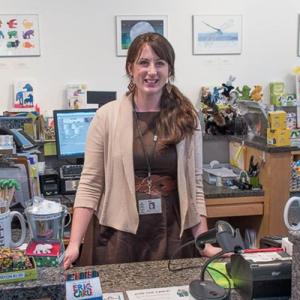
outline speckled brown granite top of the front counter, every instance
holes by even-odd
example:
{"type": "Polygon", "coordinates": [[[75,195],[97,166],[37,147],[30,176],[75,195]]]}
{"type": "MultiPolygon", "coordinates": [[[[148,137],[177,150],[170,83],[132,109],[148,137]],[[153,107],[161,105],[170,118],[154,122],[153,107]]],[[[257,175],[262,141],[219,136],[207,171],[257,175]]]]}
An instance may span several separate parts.
{"type": "MultiPolygon", "coordinates": [[[[178,259],[172,262],[173,268],[195,266],[178,272],[168,270],[168,261],[152,261],[129,264],[113,264],[91,267],[76,267],[65,273],[96,270],[99,272],[101,287],[104,293],[124,292],[126,290],[158,288],[188,285],[192,280],[199,279],[203,259],[178,259]]],[[[1,284],[0,299],[39,299],[51,297],[64,299],[64,276],[60,268],[38,269],[38,280],[24,281],[18,284],[1,284]]],[[[232,291],[232,300],[241,297],[232,291]]]]}

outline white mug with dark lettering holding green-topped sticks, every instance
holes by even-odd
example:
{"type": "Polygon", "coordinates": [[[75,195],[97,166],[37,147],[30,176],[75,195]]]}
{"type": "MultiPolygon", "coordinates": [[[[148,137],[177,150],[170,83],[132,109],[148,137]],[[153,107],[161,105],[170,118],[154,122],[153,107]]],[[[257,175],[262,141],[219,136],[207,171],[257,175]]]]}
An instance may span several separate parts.
{"type": "Polygon", "coordinates": [[[21,246],[26,237],[26,224],[24,217],[18,211],[7,211],[0,214],[0,247],[16,248],[21,246]],[[18,241],[14,242],[11,239],[11,221],[14,217],[19,219],[21,224],[21,237],[18,241]]]}

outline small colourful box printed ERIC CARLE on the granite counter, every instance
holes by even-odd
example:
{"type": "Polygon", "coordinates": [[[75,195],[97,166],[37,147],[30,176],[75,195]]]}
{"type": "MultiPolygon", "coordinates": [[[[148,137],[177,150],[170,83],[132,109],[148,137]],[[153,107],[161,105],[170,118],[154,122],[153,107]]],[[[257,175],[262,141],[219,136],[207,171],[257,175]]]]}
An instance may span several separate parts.
{"type": "Polygon", "coordinates": [[[66,278],[66,299],[103,300],[98,272],[87,271],[68,274],[66,278]]]}

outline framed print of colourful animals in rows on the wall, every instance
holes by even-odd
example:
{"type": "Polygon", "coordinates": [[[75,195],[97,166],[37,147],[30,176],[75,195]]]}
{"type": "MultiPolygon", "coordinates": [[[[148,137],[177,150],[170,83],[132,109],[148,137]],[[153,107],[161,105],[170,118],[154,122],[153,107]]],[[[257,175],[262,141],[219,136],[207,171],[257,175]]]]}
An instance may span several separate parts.
{"type": "Polygon", "coordinates": [[[39,56],[38,15],[0,14],[0,56],[39,56]]]}

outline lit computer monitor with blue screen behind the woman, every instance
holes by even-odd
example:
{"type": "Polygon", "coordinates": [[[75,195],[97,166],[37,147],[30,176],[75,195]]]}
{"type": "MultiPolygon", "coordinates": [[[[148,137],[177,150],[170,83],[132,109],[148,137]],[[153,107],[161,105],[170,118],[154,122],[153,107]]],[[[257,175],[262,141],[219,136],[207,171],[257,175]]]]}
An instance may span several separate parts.
{"type": "Polygon", "coordinates": [[[95,114],[96,109],[53,111],[59,159],[84,157],[88,128],[95,114]]]}

